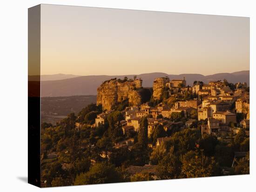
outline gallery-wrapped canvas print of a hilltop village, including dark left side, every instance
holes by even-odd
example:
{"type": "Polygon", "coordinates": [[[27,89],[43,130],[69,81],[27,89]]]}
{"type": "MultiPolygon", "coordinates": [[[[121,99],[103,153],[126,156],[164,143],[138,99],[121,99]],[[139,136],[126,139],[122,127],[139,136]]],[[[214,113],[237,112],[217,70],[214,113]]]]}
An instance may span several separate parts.
{"type": "Polygon", "coordinates": [[[249,174],[249,18],[28,9],[28,182],[249,174]]]}

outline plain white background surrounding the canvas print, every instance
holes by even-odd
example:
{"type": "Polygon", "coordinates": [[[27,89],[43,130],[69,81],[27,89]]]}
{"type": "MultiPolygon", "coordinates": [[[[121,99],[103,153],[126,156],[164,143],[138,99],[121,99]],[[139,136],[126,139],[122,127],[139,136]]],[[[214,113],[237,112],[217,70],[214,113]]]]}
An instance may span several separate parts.
{"type": "MultiPolygon", "coordinates": [[[[250,17],[250,175],[102,184],[44,191],[254,191],[256,182],[253,76],[256,52],[254,0],[3,0],[0,3],[0,191],[39,191],[27,184],[27,8],[46,4],[250,17]]],[[[209,69],[210,70],[210,69],[209,69]]]]}

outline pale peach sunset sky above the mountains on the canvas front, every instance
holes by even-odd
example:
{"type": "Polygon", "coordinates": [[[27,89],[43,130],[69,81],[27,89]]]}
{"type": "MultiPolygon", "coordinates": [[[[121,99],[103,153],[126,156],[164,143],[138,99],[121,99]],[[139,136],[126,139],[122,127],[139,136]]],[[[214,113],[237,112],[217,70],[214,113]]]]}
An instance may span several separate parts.
{"type": "Polygon", "coordinates": [[[41,5],[41,74],[249,70],[249,18],[41,5]]]}

